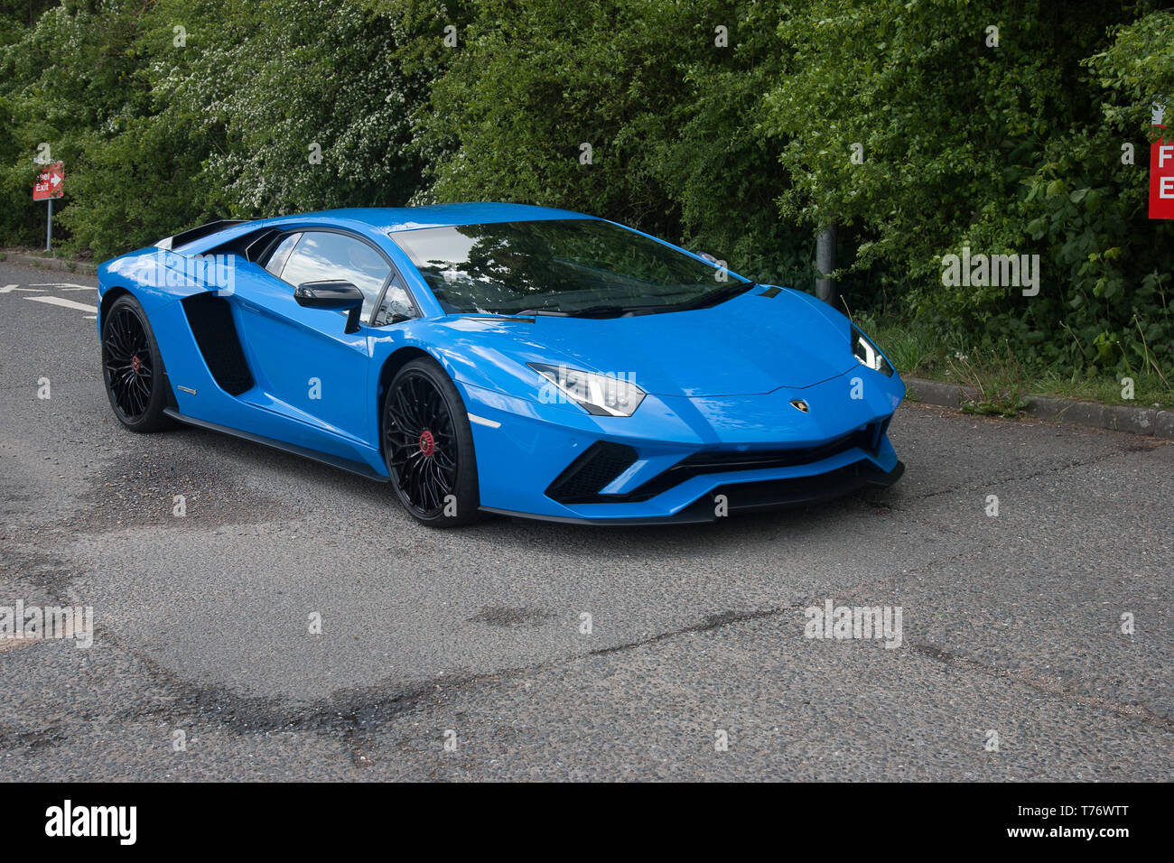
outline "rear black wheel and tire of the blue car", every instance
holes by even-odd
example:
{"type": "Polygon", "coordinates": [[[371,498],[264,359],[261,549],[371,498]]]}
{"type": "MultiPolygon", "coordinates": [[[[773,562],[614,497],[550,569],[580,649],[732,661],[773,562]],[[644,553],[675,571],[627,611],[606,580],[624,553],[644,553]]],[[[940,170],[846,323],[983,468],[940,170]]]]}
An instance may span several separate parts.
{"type": "Polygon", "coordinates": [[[130,431],[155,432],[175,425],[163,413],[169,393],[155,333],[130,295],[115,299],[102,316],[102,380],[114,416],[130,431]]]}

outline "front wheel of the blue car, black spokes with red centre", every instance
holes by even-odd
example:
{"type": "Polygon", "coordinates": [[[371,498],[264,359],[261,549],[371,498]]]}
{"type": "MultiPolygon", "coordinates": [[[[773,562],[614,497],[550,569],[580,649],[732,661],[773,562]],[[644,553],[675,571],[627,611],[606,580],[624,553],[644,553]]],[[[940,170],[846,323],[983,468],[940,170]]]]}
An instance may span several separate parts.
{"type": "Polygon", "coordinates": [[[420,524],[460,527],[480,518],[465,403],[431,359],[413,359],[392,378],[383,400],[383,456],[399,503],[420,524]]]}

